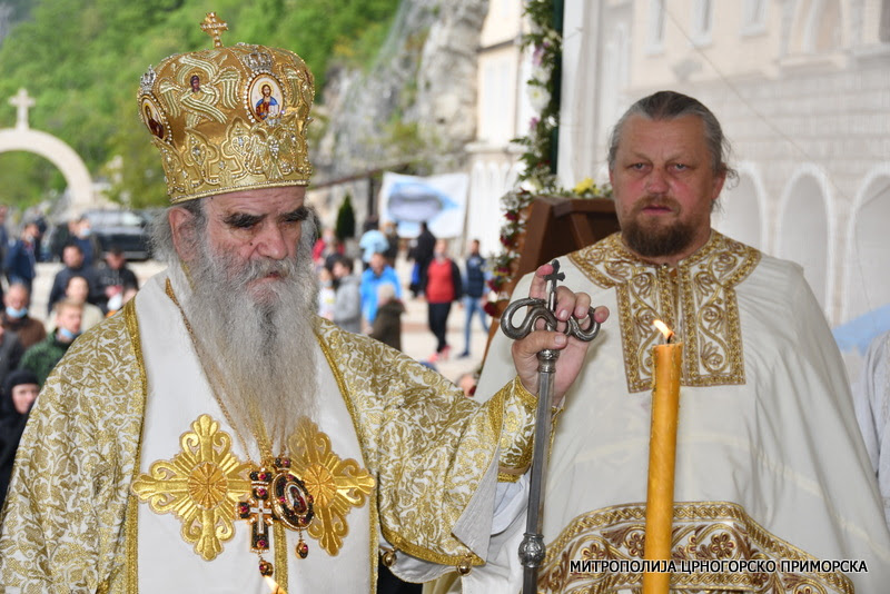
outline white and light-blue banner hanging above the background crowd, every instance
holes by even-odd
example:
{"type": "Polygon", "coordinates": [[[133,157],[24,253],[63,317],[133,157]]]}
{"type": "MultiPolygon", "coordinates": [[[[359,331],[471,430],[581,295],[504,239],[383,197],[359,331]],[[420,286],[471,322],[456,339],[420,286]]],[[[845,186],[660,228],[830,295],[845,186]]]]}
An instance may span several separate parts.
{"type": "Polygon", "coordinates": [[[378,202],[380,221],[397,222],[399,237],[417,237],[422,221],[436,237],[459,237],[468,188],[466,174],[417,177],[386,172],[378,202]]]}

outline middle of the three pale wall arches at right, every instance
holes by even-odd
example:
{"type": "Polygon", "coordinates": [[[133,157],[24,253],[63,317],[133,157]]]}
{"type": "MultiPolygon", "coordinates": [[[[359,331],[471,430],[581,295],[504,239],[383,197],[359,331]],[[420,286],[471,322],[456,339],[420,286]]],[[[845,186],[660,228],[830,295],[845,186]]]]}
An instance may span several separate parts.
{"type": "Polygon", "coordinates": [[[825,172],[814,164],[801,165],[782,192],[773,244],[777,256],[803,267],[829,319],[834,306],[835,210],[825,172]]]}

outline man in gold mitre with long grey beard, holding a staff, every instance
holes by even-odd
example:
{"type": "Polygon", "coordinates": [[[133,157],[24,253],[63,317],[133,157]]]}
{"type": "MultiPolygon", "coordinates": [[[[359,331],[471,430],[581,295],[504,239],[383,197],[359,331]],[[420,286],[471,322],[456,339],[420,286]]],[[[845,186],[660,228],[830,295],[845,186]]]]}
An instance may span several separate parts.
{"type": "MultiPolygon", "coordinates": [[[[222,47],[214,13],[202,29],[212,49],[162,60],[138,91],[171,202],[154,227],[168,268],[78,338],[38,397],[2,517],[0,583],[373,592],[378,552],[405,580],[472,581],[491,534],[524,506],[535,354],[563,350],[558,395],[586,345],[530,335],[479,406],[319,319],[312,75],[290,51],[222,47]],[[251,98],[265,88],[280,109],[260,118],[251,98]]],[[[586,318],[589,306],[566,289],[557,315],[586,318]]]]}

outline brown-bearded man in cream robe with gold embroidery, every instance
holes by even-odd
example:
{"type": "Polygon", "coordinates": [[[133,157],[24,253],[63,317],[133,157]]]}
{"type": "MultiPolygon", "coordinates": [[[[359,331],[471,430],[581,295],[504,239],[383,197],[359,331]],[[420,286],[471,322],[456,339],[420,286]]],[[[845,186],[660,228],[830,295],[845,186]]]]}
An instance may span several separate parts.
{"type": "MultiPolygon", "coordinates": [[[[561,261],[565,283],[619,324],[591,347],[595,365],[556,422],[540,592],[639,592],[630,562],[646,537],[654,319],[683,343],[671,558],[713,562],[674,574],[672,590],[887,590],[890,535],[821,309],[799,266],[711,228],[734,174],[728,148],[714,115],[673,91],[641,99],[614,128],[621,231],[561,261]],[[774,565],[745,571],[756,561],[774,565]]],[[[497,337],[481,392],[508,372],[508,353],[497,337]]]]}

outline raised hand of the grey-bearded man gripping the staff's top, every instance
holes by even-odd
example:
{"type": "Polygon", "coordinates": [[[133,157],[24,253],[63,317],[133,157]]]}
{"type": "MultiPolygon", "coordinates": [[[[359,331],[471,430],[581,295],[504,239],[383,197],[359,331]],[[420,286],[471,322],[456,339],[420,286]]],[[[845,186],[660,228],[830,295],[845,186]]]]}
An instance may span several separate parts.
{"type": "MultiPolygon", "coordinates": [[[[528,289],[528,297],[548,300],[548,284],[553,285],[555,271],[552,265],[538,267],[528,289]]],[[[520,376],[522,385],[532,394],[538,392],[538,359],[537,354],[546,348],[558,350],[560,358],[556,363],[556,373],[553,382],[553,406],[562,404],[563,396],[581,372],[584,357],[587,354],[590,341],[580,340],[574,336],[565,335],[565,327],[570,318],[574,318],[582,329],[590,328],[591,297],[586,293],[573,293],[564,286],[556,287],[555,316],[557,326],[555,331],[544,327],[544,320],[538,319],[535,329],[526,337],[513,341],[513,364],[520,376]]],[[[609,309],[597,307],[593,314],[596,323],[602,324],[609,318],[609,309]]]]}

